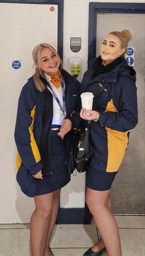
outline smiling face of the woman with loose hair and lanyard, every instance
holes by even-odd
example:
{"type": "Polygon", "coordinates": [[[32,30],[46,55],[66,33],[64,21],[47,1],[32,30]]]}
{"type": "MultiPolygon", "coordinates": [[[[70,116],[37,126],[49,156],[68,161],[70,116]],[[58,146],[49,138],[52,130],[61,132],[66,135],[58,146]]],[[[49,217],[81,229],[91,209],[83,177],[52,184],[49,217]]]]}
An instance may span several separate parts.
{"type": "Polygon", "coordinates": [[[40,56],[41,69],[47,75],[58,75],[60,59],[52,49],[44,47],[40,56]]]}

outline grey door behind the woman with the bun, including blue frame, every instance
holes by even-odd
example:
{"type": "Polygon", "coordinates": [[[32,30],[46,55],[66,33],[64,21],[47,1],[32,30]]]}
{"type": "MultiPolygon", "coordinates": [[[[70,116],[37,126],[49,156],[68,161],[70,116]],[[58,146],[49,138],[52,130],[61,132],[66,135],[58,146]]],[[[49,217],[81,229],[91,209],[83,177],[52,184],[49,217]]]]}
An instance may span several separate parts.
{"type": "Polygon", "coordinates": [[[129,43],[135,48],[134,69],[138,92],[138,125],[130,132],[130,143],[119,173],[112,185],[112,206],[117,214],[143,214],[145,202],[145,10],[143,4],[90,4],[93,7],[93,28],[89,25],[89,54],[100,54],[101,41],[112,31],[130,30],[133,38],[129,43]],[[113,6],[114,5],[114,6],[113,6]],[[104,8],[104,9],[103,9],[104,8]],[[133,13],[131,11],[133,10],[133,13]],[[142,8],[142,11],[141,11],[142,8]],[[97,9],[97,10],[96,10],[97,9]],[[92,31],[92,32],[91,32],[92,31]],[[92,47],[93,46],[93,47],[92,47]],[[92,49],[93,48],[93,49],[92,49]]]}

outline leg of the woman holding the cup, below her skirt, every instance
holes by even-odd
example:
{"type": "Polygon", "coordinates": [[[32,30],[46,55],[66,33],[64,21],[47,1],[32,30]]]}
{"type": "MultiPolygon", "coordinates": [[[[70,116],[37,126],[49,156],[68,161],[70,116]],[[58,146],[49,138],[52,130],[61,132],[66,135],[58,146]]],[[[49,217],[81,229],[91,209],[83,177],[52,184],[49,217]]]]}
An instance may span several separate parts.
{"type": "Polygon", "coordinates": [[[104,241],[108,255],[122,256],[117,223],[108,206],[109,190],[97,191],[87,188],[86,202],[100,231],[101,241],[104,241]]]}

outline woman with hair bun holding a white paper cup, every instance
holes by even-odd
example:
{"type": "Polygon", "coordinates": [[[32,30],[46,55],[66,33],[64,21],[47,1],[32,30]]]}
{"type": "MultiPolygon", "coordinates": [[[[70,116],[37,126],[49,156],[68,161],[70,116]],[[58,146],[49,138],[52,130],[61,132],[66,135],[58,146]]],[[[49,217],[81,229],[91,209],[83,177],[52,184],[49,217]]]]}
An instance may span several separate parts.
{"type": "Polygon", "coordinates": [[[128,146],[130,130],[138,122],[136,72],[125,61],[131,33],[111,32],[101,43],[100,56],[89,62],[81,93],[92,92],[93,109],[81,109],[90,122],[93,157],[86,173],[86,202],[100,240],[84,256],[121,256],[119,231],[111,210],[110,189],[128,146]],[[97,93],[108,83],[100,97],[97,93]]]}

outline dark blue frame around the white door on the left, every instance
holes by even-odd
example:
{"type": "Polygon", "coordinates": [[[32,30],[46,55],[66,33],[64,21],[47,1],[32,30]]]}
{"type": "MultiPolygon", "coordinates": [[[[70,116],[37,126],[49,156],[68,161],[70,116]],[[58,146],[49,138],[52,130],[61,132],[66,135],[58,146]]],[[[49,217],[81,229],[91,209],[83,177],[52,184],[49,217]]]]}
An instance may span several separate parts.
{"type": "Polygon", "coordinates": [[[57,52],[60,58],[63,60],[63,0],[0,0],[0,3],[9,3],[9,4],[56,4],[58,5],[58,33],[57,33],[57,52]]]}

